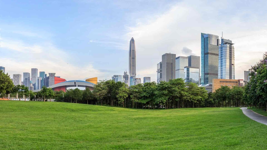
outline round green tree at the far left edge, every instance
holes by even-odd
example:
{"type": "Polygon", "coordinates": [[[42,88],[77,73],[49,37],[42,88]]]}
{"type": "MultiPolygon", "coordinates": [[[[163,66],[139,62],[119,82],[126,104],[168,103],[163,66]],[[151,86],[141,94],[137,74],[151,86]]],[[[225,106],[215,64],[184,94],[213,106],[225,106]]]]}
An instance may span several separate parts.
{"type": "Polygon", "coordinates": [[[10,94],[13,90],[14,84],[8,74],[4,74],[0,70],[0,94],[10,94]]]}

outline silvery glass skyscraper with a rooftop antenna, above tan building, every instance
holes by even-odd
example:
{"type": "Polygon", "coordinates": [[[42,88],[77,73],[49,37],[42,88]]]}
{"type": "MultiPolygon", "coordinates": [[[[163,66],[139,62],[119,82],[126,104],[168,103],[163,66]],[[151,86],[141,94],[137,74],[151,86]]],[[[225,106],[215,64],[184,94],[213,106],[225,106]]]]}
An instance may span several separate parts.
{"type": "Polygon", "coordinates": [[[218,79],[235,79],[235,49],[231,40],[221,38],[218,79]]]}

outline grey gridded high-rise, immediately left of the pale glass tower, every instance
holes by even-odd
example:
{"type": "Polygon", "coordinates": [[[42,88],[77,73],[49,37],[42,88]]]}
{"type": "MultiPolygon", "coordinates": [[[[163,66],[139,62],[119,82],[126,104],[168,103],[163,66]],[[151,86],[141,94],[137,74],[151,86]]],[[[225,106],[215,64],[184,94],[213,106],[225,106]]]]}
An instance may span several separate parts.
{"type": "Polygon", "coordinates": [[[169,82],[169,80],[175,79],[175,58],[176,54],[162,55],[162,81],[169,82]]]}

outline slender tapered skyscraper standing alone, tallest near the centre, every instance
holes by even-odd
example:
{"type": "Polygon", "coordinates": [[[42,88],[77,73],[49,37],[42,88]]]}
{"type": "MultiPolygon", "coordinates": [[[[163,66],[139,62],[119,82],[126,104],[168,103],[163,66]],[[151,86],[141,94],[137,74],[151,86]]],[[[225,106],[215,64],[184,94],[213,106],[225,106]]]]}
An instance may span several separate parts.
{"type": "Polygon", "coordinates": [[[129,76],[136,76],[136,49],[134,38],[130,40],[129,47],[129,76]]]}

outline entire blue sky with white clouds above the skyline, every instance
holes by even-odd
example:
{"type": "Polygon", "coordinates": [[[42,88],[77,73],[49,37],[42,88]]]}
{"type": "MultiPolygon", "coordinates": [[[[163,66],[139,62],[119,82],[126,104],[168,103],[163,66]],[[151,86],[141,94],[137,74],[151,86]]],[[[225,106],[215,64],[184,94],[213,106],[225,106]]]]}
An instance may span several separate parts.
{"type": "Polygon", "coordinates": [[[67,80],[111,79],[128,71],[136,41],[137,77],[156,81],[167,52],[200,55],[201,32],[235,43],[236,79],[266,51],[266,1],[3,1],[0,66],[67,80]],[[253,55],[252,55],[253,54],[253,55]]]}

